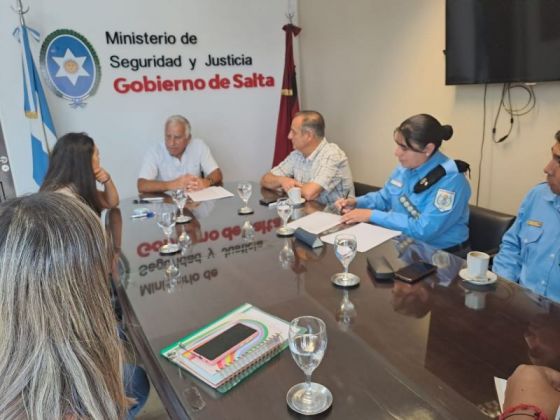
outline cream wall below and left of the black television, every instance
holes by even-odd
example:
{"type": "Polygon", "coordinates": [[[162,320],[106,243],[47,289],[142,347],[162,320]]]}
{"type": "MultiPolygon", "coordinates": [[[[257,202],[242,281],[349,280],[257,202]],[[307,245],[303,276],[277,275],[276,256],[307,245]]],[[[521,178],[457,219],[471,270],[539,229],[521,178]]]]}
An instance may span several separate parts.
{"type": "MultiPolygon", "coordinates": [[[[305,0],[299,12],[302,105],[324,114],[327,136],[348,154],[355,180],[382,185],[396,164],[394,128],[425,112],[453,126],[442,150],[471,164],[474,201],[484,86],[445,86],[445,1],[305,0]]],[[[539,84],[535,93],[536,108],[497,145],[489,136],[501,85],[488,88],[482,206],[515,213],[544,179],[560,129],[560,83],[539,84]]],[[[513,99],[521,106],[526,98],[513,99]]],[[[501,121],[498,132],[505,134],[509,117],[502,113],[501,121]]]]}

